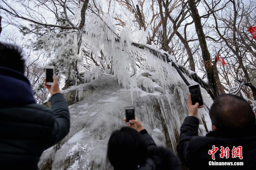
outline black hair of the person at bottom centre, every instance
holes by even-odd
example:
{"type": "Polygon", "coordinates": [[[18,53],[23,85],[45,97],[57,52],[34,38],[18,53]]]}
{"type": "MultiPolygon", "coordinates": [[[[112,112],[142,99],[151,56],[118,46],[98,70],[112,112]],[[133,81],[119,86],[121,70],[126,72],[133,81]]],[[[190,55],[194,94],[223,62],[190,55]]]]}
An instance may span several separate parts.
{"type": "Polygon", "coordinates": [[[107,159],[115,170],[137,169],[147,157],[146,142],[135,129],[123,127],[111,134],[107,159]]]}

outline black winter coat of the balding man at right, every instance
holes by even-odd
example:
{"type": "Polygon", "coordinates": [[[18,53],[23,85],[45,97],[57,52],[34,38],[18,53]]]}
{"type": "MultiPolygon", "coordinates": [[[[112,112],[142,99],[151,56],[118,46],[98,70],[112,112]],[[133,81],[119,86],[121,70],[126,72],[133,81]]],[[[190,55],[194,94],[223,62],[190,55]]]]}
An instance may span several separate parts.
{"type": "MultiPolygon", "coordinates": [[[[182,162],[190,169],[256,169],[256,126],[247,131],[229,131],[219,132],[211,131],[206,136],[198,136],[199,120],[194,116],[185,118],[181,126],[179,144],[177,147],[178,155],[182,162]],[[214,154],[208,153],[213,149],[213,145],[218,148],[214,154]],[[229,157],[220,158],[221,146],[229,148],[229,157]],[[242,146],[242,159],[239,157],[232,158],[233,146],[235,148],[242,146]],[[216,162],[223,166],[215,166],[216,162]],[[243,162],[243,165],[235,165],[243,162]],[[209,165],[211,164],[211,165],[209,165]],[[214,165],[213,165],[214,164],[214,165]],[[230,164],[230,165],[228,165],[230,164]],[[231,165],[233,164],[233,165],[231,165]]],[[[234,149],[234,153],[238,151],[234,149]]],[[[239,153],[239,152],[237,152],[239,153]]],[[[235,154],[233,154],[235,156],[235,154]]],[[[236,155],[239,156],[239,155],[236,155]]]]}

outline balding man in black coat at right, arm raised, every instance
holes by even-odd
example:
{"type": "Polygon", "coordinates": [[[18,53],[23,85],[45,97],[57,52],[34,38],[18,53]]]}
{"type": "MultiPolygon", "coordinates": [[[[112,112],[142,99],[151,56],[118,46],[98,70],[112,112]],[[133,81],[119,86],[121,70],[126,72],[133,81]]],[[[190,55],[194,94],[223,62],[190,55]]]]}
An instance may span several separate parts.
{"type": "Polygon", "coordinates": [[[189,116],[180,129],[178,155],[190,169],[255,169],[256,124],[249,103],[222,94],[215,98],[209,115],[213,131],[198,136],[198,103],[187,104],[189,116]]]}

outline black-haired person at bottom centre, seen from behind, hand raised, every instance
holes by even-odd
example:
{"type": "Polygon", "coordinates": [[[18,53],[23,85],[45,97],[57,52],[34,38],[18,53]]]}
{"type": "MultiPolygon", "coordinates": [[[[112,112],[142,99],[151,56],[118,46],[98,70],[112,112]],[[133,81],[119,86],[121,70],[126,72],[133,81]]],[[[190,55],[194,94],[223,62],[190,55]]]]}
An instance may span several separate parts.
{"type": "Polygon", "coordinates": [[[179,158],[170,149],[157,147],[137,118],[130,123],[114,131],[108,141],[107,160],[114,170],[182,169],[179,158]]]}

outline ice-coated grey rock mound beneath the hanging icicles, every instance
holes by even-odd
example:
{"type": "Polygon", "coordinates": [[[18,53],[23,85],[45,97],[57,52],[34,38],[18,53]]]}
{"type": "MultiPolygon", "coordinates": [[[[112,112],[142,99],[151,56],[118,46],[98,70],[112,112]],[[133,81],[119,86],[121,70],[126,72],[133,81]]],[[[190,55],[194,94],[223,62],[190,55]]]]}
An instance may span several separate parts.
{"type": "MultiPolygon", "coordinates": [[[[134,88],[133,101],[130,88],[122,88],[109,74],[64,91],[70,105],[70,132],[60,143],[43,152],[39,169],[109,169],[106,168],[108,138],[115,129],[126,126],[123,119],[127,106],[135,107],[135,116],[157,145],[176,148],[179,128],[187,115],[181,102],[183,95],[175,87],[167,93],[152,83],[154,90],[148,92],[153,93],[143,91],[145,88],[141,86],[141,89],[134,88]]],[[[203,132],[203,125],[200,127],[203,132]]]]}

